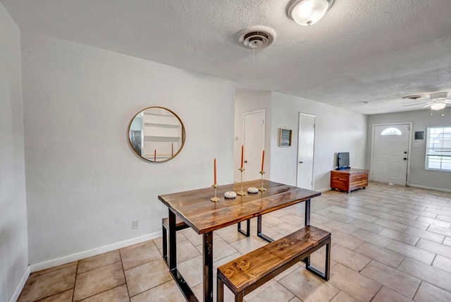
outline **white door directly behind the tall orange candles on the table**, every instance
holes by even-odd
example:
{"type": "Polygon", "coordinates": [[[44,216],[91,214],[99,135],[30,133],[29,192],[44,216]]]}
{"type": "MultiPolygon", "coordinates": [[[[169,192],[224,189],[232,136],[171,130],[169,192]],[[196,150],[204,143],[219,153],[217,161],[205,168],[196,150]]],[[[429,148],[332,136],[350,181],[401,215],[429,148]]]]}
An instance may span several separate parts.
{"type": "Polygon", "coordinates": [[[265,145],[265,109],[244,114],[245,171],[243,181],[260,179],[261,153],[265,145]]]}

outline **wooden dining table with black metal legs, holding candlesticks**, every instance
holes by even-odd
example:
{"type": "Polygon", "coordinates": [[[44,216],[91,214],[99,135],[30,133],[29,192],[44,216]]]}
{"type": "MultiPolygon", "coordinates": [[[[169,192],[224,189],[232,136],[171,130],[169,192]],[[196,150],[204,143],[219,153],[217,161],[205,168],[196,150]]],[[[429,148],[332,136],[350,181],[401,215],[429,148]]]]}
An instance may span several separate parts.
{"type": "Polygon", "coordinates": [[[214,197],[214,188],[159,195],[159,200],[168,207],[169,270],[187,301],[198,300],[177,269],[176,216],[197,234],[203,236],[204,301],[213,301],[213,231],[302,202],[305,202],[305,225],[310,225],[310,199],[321,195],[320,192],[274,181],[263,181],[262,183],[261,180],[245,181],[242,183],[242,188],[247,191],[249,187],[258,188],[262,184],[266,191],[247,193],[243,196],[237,195],[232,199],[224,198],[224,193],[241,191],[241,183],[219,186],[217,195],[221,199],[217,202],[210,201],[210,198],[214,197]]]}

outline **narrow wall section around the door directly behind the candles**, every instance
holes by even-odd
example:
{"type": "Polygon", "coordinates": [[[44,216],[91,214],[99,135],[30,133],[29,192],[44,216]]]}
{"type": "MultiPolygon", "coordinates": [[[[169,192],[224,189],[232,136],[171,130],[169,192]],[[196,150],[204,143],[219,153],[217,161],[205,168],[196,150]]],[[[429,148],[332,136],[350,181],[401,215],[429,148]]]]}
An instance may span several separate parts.
{"type": "Polygon", "coordinates": [[[235,95],[235,181],[240,181],[241,145],[244,144],[243,114],[245,112],[265,109],[265,178],[270,179],[271,159],[271,92],[262,90],[237,90],[235,95]]]}

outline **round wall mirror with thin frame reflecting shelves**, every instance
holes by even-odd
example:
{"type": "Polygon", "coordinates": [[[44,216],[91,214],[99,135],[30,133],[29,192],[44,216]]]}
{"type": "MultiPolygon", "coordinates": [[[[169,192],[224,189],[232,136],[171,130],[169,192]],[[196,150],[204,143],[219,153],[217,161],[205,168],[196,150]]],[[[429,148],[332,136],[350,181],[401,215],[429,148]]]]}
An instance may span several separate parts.
{"type": "Polygon", "coordinates": [[[185,126],[173,111],[148,107],[130,121],[128,140],[140,157],[149,162],[166,162],[182,150],[185,126]]]}

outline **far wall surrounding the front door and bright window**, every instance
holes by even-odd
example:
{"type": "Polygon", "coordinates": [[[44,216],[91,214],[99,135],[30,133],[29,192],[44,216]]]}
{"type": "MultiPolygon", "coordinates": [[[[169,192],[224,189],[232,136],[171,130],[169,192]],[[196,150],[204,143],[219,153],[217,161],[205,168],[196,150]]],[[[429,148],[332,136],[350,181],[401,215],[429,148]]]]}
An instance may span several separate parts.
{"type": "Polygon", "coordinates": [[[396,112],[393,114],[375,114],[368,118],[368,143],[366,166],[371,164],[371,149],[373,143],[373,125],[376,123],[412,122],[412,146],[410,154],[410,186],[420,188],[437,188],[451,191],[451,172],[431,171],[424,169],[426,159],[426,131],[428,126],[451,126],[451,108],[445,109],[445,116],[441,111],[417,110],[396,112]],[[424,131],[424,140],[415,140],[415,131],[424,131]],[[419,147],[414,147],[419,143],[419,147]]]}

